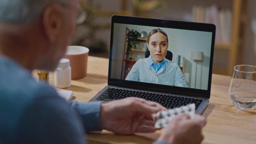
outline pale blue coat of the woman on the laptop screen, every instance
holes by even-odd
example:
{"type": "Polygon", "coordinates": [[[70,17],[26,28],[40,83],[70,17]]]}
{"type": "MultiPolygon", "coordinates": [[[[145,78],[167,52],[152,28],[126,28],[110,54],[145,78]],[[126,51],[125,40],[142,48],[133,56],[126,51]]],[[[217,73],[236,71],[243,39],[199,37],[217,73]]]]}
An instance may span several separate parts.
{"type": "Polygon", "coordinates": [[[156,72],[150,65],[149,58],[139,59],[132,66],[125,80],[188,87],[182,71],[176,63],[165,59],[165,68],[162,67],[156,72]]]}

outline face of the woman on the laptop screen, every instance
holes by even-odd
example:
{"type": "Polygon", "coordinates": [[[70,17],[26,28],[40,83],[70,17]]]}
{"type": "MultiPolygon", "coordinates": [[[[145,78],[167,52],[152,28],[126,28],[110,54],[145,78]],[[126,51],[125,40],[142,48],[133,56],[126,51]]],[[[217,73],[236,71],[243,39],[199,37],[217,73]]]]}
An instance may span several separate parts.
{"type": "Polygon", "coordinates": [[[150,55],[155,64],[162,62],[168,49],[166,36],[159,32],[152,34],[147,43],[147,48],[149,48],[150,55]]]}

